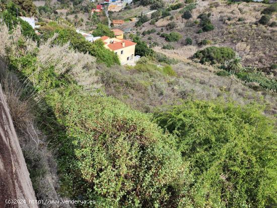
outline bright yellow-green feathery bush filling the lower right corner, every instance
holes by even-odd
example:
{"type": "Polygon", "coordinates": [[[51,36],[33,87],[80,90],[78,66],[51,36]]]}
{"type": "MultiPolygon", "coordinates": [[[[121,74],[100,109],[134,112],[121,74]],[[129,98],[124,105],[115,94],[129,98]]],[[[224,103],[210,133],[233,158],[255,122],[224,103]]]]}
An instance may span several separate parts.
{"type": "Polygon", "coordinates": [[[264,207],[274,195],[277,134],[259,106],[186,101],[154,116],[195,177],[182,207],[264,207]]]}

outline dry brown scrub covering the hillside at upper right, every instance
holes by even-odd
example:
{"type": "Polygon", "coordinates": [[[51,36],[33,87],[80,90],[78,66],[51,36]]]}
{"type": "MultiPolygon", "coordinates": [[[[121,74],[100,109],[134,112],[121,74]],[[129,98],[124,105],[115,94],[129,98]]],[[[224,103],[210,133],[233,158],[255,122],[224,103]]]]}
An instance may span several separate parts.
{"type": "MultiPolygon", "coordinates": [[[[261,17],[261,11],[268,5],[260,3],[240,3],[228,4],[226,1],[199,1],[198,6],[192,10],[192,18],[184,20],[177,11],[172,11],[173,20],[170,17],[160,19],[156,25],[145,23],[138,31],[143,32],[151,28],[156,28],[157,32],[168,33],[166,26],[170,22],[175,22],[176,27],[171,31],[177,31],[182,34],[183,39],[178,42],[170,42],[175,47],[175,51],[168,53],[179,53],[185,55],[192,54],[192,51],[200,49],[198,45],[202,40],[211,40],[209,46],[228,46],[236,50],[238,55],[242,57],[242,64],[252,65],[269,71],[269,66],[276,63],[277,51],[277,29],[276,27],[268,27],[256,25],[261,17]],[[197,33],[200,29],[194,21],[198,20],[197,16],[201,13],[211,13],[211,21],[215,25],[215,29],[210,32],[197,33]],[[239,21],[240,19],[240,21],[239,21]],[[184,46],[185,38],[190,37],[194,46],[184,46]],[[193,50],[192,50],[193,49],[193,50]],[[189,52],[190,51],[190,52],[189,52]]],[[[270,22],[276,20],[276,14],[272,15],[270,22]]],[[[157,42],[159,46],[165,43],[157,33],[146,35],[143,37],[148,43],[157,42]],[[148,40],[151,36],[152,40],[148,40]]],[[[275,76],[276,71],[271,71],[275,76]]]]}

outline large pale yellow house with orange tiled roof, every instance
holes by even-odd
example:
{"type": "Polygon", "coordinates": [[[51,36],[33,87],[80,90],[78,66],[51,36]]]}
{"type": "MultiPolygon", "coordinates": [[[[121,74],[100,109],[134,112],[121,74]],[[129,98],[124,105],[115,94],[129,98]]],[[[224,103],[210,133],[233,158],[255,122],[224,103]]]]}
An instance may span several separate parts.
{"type": "Polygon", "coordinates": [[[103,36],[101,39],[104,41],[105,48],[112,50],[118,55],[122,65],[134,64],[134,48],[136,43],[121,38],[109,38],[107,36],[103,36]]]}

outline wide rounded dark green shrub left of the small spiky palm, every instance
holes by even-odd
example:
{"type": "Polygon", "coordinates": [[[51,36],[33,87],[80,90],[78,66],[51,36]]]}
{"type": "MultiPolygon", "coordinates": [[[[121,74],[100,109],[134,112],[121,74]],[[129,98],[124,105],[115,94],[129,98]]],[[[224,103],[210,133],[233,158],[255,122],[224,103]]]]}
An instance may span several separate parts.
{"type": "Polygon", "coordinates": [[[201,63],[225,63],[225,61],[232,59],[235,52],[228,47],[207,47],[203,50],[198,50],[193,54],[194,58],[199,58],[201,63]]]}

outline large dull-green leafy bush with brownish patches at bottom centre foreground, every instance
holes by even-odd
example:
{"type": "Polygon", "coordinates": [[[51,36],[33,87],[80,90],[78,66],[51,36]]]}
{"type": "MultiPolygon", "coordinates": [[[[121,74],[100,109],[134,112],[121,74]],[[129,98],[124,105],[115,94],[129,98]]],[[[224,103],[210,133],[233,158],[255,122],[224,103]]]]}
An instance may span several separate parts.
{"type": "Polygon", "coordinates": [[[96,199],[101,207],[155,207],[174,204],[189,176],[174,138],[150,117],[112,98],[65,96],[56,109],[71,140],[62,188],[96,199]],[[70,112],[70,113],[69,113],[70,112]],[[68,157],[70,156],[71,157],[68,157]]]}

